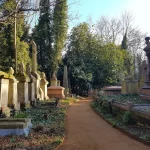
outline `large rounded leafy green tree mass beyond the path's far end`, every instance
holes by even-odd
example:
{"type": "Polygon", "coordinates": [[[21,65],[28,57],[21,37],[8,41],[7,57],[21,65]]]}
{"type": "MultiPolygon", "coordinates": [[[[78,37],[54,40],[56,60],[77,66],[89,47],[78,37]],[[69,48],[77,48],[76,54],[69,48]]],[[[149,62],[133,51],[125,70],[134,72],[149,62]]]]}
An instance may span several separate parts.
{"type": "MultiPolygon", "coordinates": [[[[115,84],[124,74],[124,53],[119,46],[102,45],[87,23],[71,30],[63,63],[68,67],[72,93],[85,95],[92,88],[115,84]]],[[[61,80],[63,66],[58,78],[61,80]]]]}

